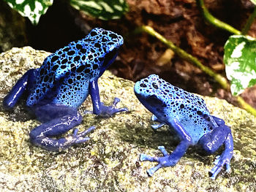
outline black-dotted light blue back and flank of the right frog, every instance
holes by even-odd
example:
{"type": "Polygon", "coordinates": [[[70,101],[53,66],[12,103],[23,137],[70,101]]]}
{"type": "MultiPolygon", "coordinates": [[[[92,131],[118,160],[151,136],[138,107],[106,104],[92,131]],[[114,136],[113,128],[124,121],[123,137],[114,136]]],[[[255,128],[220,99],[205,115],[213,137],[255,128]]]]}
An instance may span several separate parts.
{"type": "Polygon", "coordinates": [[[204,134],[214,128],[215,124],[205,101],[165,80],[159,79],[159,83],[162,96],[167,96],[165,115],[171,119],[177,118],[196,144],[204,134]]]}

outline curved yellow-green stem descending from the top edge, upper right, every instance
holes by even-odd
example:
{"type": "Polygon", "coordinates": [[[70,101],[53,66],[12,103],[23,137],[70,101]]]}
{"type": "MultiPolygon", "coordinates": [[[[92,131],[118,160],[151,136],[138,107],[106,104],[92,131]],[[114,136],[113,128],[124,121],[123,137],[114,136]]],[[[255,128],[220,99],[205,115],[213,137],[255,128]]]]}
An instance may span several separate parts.
{"type": "Polygon", "coordinates": [[[218,28],[222,28],[226,31],[229,31],[232,34],[241,34],[241,31],[238,31],[236,28],[233,28],[233,26],[230,26],[227,23],[224,23],[221,20],[214,18],[214,16],[211,15],[210,12],[208,12],[208,9],[206,8],[203,0],[197,0],[197,6],[200,7],[203,13],[203,17],[208,21],[208,23],[211,23],[212,25],[218,28]]]}

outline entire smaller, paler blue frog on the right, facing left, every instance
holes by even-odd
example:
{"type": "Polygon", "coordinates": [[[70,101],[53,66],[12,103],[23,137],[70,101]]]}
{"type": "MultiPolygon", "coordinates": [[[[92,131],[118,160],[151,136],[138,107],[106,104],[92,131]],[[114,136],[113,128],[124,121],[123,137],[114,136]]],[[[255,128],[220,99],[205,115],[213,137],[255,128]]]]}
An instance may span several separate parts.
{"type": "Polygon", "coordinates": [[[230,172],[230,160],[233,157],[231,130],[224,120],[210,115],[203,99],[165,82],[156,74],[136,82],[134,90],[140,102],[154,114],[151,120],[159,122],[152,128],[157,129],[166,124],[174,129],[180,139],[173,153],[169,154],[165,147],[159,146],[163,157],[140,155],[140,161],[159,163],[148,169],[150,176],[161,167],[175,166],[191,145],[200,145],[208,154],[225,145],[225,150],[217,156],[209,175],[214,180],[224,166],[230,172]]]}

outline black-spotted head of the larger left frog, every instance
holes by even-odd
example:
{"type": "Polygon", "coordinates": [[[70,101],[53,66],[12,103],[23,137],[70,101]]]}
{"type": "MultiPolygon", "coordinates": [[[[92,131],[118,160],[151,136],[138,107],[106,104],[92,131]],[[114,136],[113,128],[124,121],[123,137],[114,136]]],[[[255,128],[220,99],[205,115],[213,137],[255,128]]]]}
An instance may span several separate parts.
{"type": "Polygon", "coordinates": [[[112,31],[94,28],[86,37],[85,42],[91,47],[87,54],[94,62],[94,68],[99,69],[100,76],[116,59],[118,49],[124,44],[124,39],[112,31]]]}

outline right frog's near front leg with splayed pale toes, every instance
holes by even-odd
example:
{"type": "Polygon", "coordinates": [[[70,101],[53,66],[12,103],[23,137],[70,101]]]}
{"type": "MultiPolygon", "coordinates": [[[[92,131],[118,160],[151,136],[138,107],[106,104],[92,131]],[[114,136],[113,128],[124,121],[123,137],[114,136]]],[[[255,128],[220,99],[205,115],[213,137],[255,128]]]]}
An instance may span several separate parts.
{"type": "Polygon", "coordinates": [[[181,123],[177,119],[170,120],[170,122],[167,123],[168,126],[171,126],[174,128],[176,133],[178,134],[178,137],[180,137],[181,142],[178,144],[175,150],[173,150],[173,153],[168,154],[165,150],[165,147],[159,146],[159,150],[163,153],[163,157],[151,157],[149,155],[140,154],[140,161],[157,161],[159,164],[157,166],[152,167],[151,169],[148,169],[148,175],[152,176],[154,172],[157,171],[157,169],[165,166],[175,166],[177,162],[181,159],[181,157],[186,153],[188,147],[192,145],[192,138],[189,136],[187,131],[184,129],[184,127],[181,125],[181,123]]]}

